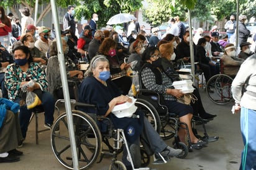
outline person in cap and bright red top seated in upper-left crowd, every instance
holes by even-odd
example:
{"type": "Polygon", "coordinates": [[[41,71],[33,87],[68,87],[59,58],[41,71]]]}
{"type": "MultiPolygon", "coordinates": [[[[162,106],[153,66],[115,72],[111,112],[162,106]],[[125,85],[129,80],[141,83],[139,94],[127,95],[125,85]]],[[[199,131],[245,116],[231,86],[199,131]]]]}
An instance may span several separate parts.
{"type": "Polygon", "coordinates": [[[77,51],[82,55],[82,58],[88,55],[89,42],[93,39],[92,30],[90,25],[86,25],[83,29],[83,36],[77,41],[77,51]]]}

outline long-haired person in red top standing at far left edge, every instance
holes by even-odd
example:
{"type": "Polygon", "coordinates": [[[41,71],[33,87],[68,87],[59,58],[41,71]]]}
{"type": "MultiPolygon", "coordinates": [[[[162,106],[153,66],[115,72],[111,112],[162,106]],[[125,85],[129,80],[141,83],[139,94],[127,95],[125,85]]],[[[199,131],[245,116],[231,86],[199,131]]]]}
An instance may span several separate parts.
{"type": "Polygon", "coordinates": [[[0,6],[0,43],[6,49],[10,44],[9,32],[12,32],[11,20],[6,16],[4,8],[0,6]]]}

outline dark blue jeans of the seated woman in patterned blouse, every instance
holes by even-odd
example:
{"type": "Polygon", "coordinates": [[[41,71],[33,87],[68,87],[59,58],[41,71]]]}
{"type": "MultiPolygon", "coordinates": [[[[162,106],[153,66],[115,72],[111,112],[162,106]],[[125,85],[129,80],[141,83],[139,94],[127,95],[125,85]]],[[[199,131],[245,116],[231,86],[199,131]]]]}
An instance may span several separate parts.
{"type": "MultiPolygon", "coordinates": [[[[19,103],[21,99],[16,99],[14,102],[19,103]]],[[[54,97],[49,92],[43,92],[42,94],[42,106],[45,112],[45,123],[50,125],[53,124],[53,114],[54,114],[54,97]]],[[[27,105],[20,108],[19,113],[19,123],[21,125],[21,132],[23,138],[25,138],[27,133],[27,127],[29,126],[29,119],[31,117],[32,110],[27,109],[27,105]]]]}

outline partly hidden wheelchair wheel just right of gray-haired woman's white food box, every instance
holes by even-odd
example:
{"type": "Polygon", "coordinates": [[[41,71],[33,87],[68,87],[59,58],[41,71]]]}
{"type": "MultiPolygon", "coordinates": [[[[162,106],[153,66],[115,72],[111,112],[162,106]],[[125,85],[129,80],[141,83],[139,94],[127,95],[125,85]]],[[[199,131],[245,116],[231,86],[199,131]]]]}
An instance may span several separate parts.
{"type": "Polygon", "coordinates": [[[135,101],[135,105],[138,107],[140,111],[144,112],[145,117],[147,117],[147,119],[155,128],[157,133],[160,133],[162,126],[160,122],[160,117],[155,107],[153,107],[153,105],[150,104],[150,102],[145,101],[144,99],[137,99],[135,101]]]}

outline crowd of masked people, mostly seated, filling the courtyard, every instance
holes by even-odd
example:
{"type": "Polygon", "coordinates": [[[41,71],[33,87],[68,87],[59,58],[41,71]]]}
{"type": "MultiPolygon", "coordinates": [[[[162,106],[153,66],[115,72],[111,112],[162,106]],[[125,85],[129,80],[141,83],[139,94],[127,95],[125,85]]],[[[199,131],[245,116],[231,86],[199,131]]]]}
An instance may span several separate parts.
{"type": "MultiPolygon", "coordinates": [[[[22,146],[25,140],[32,113],[30,109],[27,109],[24,97],[21,95],[24,84],[32,80],[34,85],[26,86],[26,90],[40,92],[41,105],[45,112],[45,127],[47,128],[51,128],[53,125],[54,102],[63,97],[60,68],[58,67],[57,40],[50,37],[52,30],[44,26],[35,27],[27,7],[23,7],[19,11],[22,14],[21,24],[17,17],[11,16],[11,14],[7,17],[4,9],[0,7],[0,83],[2,96],[6,98],[6,101],[0,100],[0,104],[11,102],[8,104],[17,105],[20,110],[18,121],[17,110],[12,110],[12,107],[5,104],[7,110],[4,112],[6,114],[1,116],[12,119],[12,130],[17,135],[12,136],[12,138],[15,137],[15,140],[10,138],[12,143],[8,147],[5,147],[6,144],[0,146],[0,162],[19,161],[17,156],[22,154],[16,148],[18,145],[22,146]],[[36,32],[38,37],[35,37],[36,32]],[[10,34],[13,38],[9,38],[10,34]],[[10,44],[12,45],[11,53],[7,50],[10,44]],[[2,149],[2,146],[5,149],[2,149]],[[6,150],[6,148],[8,149],[6,150]]],[[[198,101],[191,105],[177,102],[176,100],[184,93],[175,89],[172,84],[173,81],[179,79],[177,70],[183,64],[189,65],[191,62],[190,43],[193,43],[196,71],[203,71],[206,83],[212,76],[220,73],[219,60],[224,66],[223,73],[234,78],[240,65],[254,54],[250,51],[250,43],[247,42],[250,32],[246,32],[244,25],[246,16],[239,17],[239,28],[244,32],[238,30],[241,50],[238,55],[234,44],[230,41],[236,31],[234,16],[227,21],[225,25],[227,35],[222,36],[220,40],[221,35],[217,27],[213,27],[210,35],[204,35],[201,28],[197,30],[196,34],[190,35],[178,16],[170,19],[170,27],[163,38],[158,37],[159,29],[157,27],[152,28],[149,37],[144,27],[139,27],[136,20],[131,20],[126,25],[127,34],[129,34],[127,37],[124,34],[125,27],[113,28],[107,25],[99,29],[97,14],[93,14],[90,22],[83,25],[82,32],[77,34],[74,15],[75,7],[68,6],[63,17],[61,36],[67,78],[81,84],[78,89],[78,101],[96,104],[100,115],[110,117],[116,127],[126,128],[126,121],[132,121],[132,118],[117,119],[110,113],[114,105],[130,102],[126,95],[132,85],[132,78],[127,74],[127,70],[130,69],[130,63],[136,61],[132,69],[140,72],[142,87],[163,96],[168,110],[175,113],[181,122],[188,125],[188,132],[184,128],[180,128],[178,132],[180,141],[185,143],[185,134],[189,133],[191,143],[201,147],[206,146],[204,141],[194,135],[191,119],[193,115],[199,115],[202,119],[209,121],[213,120],[216,115],[209,114],[204,110],[196,87],[194,87],[193,94],[198,101]],[[190,36],[193,36],[193,42],[190,41],[190,36]],[[81,63],[90,63],[86,73],[80,70],[81,63]],[[125,125],[120,124],[121,120],[126,122],[125,125]]],[[[74,99],[76,97],[72,91],[70,91],[70,96],[74,99]]],[[[1,111],[3,112],[3,110],[1,111]]],[[[167,146],[153,128],[149,127],[151,125],[147,120],[144,119],[139,123],[142,130],[139,130],[138,133],[150,141],[153,153],[162,153],[164,156],[175,156],[181,153],[180,150],[174,150],[167,146]],[[152,136],[155,137],[152,138],[152,136]],[[158,138],[157,141],[152,140],[156,138],[158,138]]],[[[6,134],[6,128],[11,127],[4,126],[5,128],[0,129],[0,134],[6,134]]],[[[129,145],[139,145],[138,139],[137,137],[136,140],[130,141],[129,145]]],[[[127,162],[125,159],[126,154],[123,156],[123,161],[127,162]]],[[[129,163],[126,165],[130,166],[129,163]]]]}

